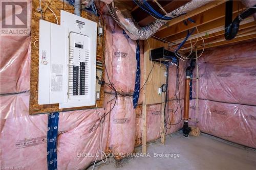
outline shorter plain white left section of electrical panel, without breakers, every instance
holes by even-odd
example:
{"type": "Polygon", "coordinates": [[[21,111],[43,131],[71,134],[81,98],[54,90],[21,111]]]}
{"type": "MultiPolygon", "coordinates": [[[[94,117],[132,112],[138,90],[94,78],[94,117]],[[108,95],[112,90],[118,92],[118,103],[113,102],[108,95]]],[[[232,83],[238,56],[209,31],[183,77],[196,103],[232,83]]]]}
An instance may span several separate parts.
{"type": "Polygon", "coordinates": [[[68,30],[45,20],[39,24],[38,104],[65,103],[68,30]]]}

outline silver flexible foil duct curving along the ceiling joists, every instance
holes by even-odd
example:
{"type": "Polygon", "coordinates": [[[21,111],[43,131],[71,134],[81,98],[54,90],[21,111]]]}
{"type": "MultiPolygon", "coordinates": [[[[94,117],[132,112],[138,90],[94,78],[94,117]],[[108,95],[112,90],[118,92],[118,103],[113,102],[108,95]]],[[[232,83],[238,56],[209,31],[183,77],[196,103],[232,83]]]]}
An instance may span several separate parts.
{"type": "MultiPolygon", "coordinates": [[[[211,0],[212,1],[212,0],[211,0]]],[[[177,17],[185,14],[189,11],[195,10],[211,1],[194,0],[184,6],[177,8],[176,10],[166,14],[169,17],[177,17]]],[[[108,6],[108,5],[107,5],[108,6]]],[[[132,14],[127,9],[119,9],[117,7],[108,6],[109,12],[117,21],[119,26],[130,36],[133,40],[144,40],[155,34],[162,25],[166,22],[163,20],[156,20],[145,27],[140,27],[138,23],[133,19],[132,14]]]]}

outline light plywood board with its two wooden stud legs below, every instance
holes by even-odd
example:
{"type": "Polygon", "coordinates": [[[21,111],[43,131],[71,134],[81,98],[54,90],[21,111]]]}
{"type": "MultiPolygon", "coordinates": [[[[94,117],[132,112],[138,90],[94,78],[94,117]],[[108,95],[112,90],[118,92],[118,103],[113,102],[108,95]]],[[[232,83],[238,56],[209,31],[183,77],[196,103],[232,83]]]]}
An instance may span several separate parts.
{"type": "MultiPolygon", "coordinates": [[[[144,70],[143,70],[143,84],[147,81],[148,75],[152,74],[149,76],[148,82],[145,85],[145,88],[143,90],[143,103],[142,103],[142,153],[146,153],[146,106],[150,104],[157,104],[157,103],[162,103],[162,95],[158,95],[158,88],[161,87],[163,84],[166,83],[166,77],[164,77],[165,74],[165,66],[160,65],[160,63],[151,62],[150,60],[150,50],[153,50],[158,47],[164,46],[167,49],[167,44],[158,41],[153,38],[149,38],[145,40],[144,42],[144,70]],[[153,71],[152,70],[152,65],[154,64],[153,71]]],[[[164,95],[164,93],[163,93],[164,95]]],[[[161,105],[161,142],[164,144],[164,103],[161,105]]]]}

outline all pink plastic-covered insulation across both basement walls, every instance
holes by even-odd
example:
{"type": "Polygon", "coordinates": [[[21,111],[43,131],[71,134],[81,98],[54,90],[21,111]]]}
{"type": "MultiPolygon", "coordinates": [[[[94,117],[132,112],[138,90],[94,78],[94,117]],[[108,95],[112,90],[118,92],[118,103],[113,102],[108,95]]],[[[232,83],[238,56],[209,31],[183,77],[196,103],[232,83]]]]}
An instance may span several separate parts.
{"type": "MultiPolygon", "coordinates": [[[[29,3],[28,5],[30,6],[29,3]]],[[[31,10],[31,8],[28,9],[31,10]]],[[[31,11],[28,13],[31,14],[31,11]]],[[[111,17],[106,16],[105,23],[107,27],[105,62],[111,82],[120,93],[133,94],[137,69],[136,41],[127,37],[111,17]],[[127,53],[128,57],[118,56],[119,52],[127,53]]],[[[47,169],[48,115],[29,115],[30,48],[33,42],[31,42],[30,36],[2,36],[0,43],[0,165],[2,167],[25,166],[26,169],[47,169]]],[[[143,70],[142,41],[140,41],[140,46],[140,68],[143,70]]],[[[254,106],[256,91],[252,86],[255,85],[256,81],[256,71],[253,65],[255,57],[254,59],[252,57],[252,55],[255,56],[255,46],[255,42],[250,42],[233,47],[215,48],[205,52],[204,57],[199,61],[199,74],[201,75],[199,79],[200,111],[198,114],[199,123],[197,124],[203,132],[253,148],[256,148],[255,132],[253,131],[256,121],[254,106]],[[236,55],[232,55],[232,53],[236,55]],[[214,60],[216,56],[218,56],[218,60],[214,60]],[[223,61],[220,60],[222,58],[223,61]],[[205,62],[208,62],[207,66],[205,62]],[[223,63],[224,65],[222,65],[223,63]],[[231,73],[231,76],[228,73],[231,73]],[[217,75],[208,77],[211,74],[217,75]],[[231,78],[225,81],[227,77],[231,78]],[[215,83],[219,82],[219,85],[212,86],[213,83],[210,82],[212,80],[215,80],[215,83]],[[225,86],[219,89],[220,83],[223,82],[225,86]],[[218,92],[216,92],[217,87],[218,92]],[[241,90],[243,91],[241,92],[241,90]]],[[[185,64],[181,69],[185,70],[184,68],[185,64]]],[[[175,79],[174,71],[169,72],[172,80],[175,79]]],[[[181,77],[184,77],[185,71],[181,71],[180,74],[181,77]]],[[[107,77],[104,78],[104,80],[107,79],[107,77]]],[[[141,77],[141,85],[143,85],[142,80],[143,77],[141,77]]],[[[182,78],[180,81],[182,93],[184,79],[182,78]]],[[[175,81],[170,81],[169,84],[169,90],[173,93],[175,81]]],[[[104,91],[104,107],[99,108],[101,117],[114,107],[114,101],[108,103],[115,96],[113,90],[105,86],[104,91]]],[[[181,96],[183,95],[181,94],[181,96]]],[[[115,107],[110,114],[105,115],[102,124],[101,143],[103,151],[127,154],[133,152],[134,147],[141,144],[142,97],[141,93],[139,106],[136,109],[133,109],[132,98],[117,97],[115,107]]],[[[193,97],[195,98],[195,92],[193,97]]],[[[181,109],[174,113],[178,104],[177,101],[173,100],[173,94],[170,95],[170,100],[168,102],[168,115],[172,123],[177,123],[183,113],[184,101],[181,100],[181,109]]],[[[190,107],[191,118],[195,117],[193,101],[190,107]]],[[[147,107],[147,141],[154,141],[160,137],[160,113],[161,104],[147,107]]],[[[59,169],[83,169],[95,161],[96,153],[100,149],[101,126],[99,126],[99,121],[100,118],[96,109],[61,112],[59,114],[56,151],[59,169]],[[92,156],[84,157],[81,156],[82,153],[90,153],[92,156]]],[[[182,123],[183,121],[172,126],[166,134],[180,130],[182,123]]],[[[122,158],[116,156],[116,159],[122,158]]]]}

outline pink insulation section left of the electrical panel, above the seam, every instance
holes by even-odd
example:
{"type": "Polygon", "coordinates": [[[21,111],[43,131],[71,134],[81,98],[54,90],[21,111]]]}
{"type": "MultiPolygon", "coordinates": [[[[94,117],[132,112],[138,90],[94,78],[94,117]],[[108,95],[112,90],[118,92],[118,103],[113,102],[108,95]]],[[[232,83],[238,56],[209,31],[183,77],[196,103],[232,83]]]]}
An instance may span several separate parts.
{"type": "Polygon", "coordinates": [[[1,36],[0,41],[0,93],[29,90],[30,37],[1,36]]]}

